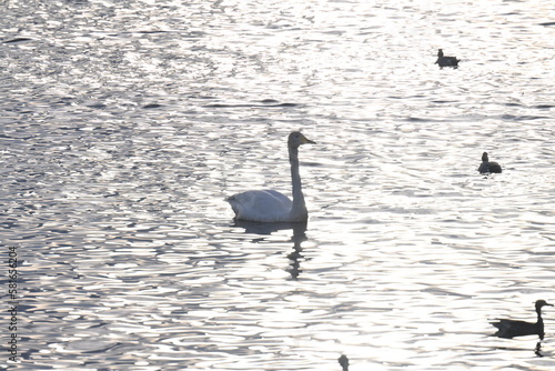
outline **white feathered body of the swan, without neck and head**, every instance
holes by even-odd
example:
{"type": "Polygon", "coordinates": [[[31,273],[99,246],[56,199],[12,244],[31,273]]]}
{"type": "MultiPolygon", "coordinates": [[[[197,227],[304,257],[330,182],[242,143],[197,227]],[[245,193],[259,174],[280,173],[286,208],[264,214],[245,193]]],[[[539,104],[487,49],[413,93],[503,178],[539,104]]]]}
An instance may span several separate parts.
{"type": "Polygon", "coordinates": [[[285,194],[274,190],[246,191],[225,200],[238,219],[252,221],[283,221],[293,207],[293,202],[285,194]]]}

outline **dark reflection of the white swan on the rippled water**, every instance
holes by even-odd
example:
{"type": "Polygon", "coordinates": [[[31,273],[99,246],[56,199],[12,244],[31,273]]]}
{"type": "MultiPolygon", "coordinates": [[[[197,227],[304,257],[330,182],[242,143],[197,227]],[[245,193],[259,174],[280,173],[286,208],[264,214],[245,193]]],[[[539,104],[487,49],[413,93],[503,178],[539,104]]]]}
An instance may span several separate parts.
{"type": "MultiPolygon", "coordinates": [[[[302,243],[306,241],[306,222],[294,222],[294,223],[264,223],[264,222],[254,222],[246,220],[236,220],[234,221],[235,227],[243,228],[246,233],[254,233],[261,235],[270,235],[274,232],[281,230],[293,230],[293,235],[291,237],[291,241],[293,242],[293,251],[287,254],[290,260],[289,268],[285,270],[293,280],[296,280],[299,275],[302,273],[301,261],[304,259],[302,254],[302,243]]],[[[254,240],[254,242],[259,242],[264,240],[263,238],[254,240]]]]}

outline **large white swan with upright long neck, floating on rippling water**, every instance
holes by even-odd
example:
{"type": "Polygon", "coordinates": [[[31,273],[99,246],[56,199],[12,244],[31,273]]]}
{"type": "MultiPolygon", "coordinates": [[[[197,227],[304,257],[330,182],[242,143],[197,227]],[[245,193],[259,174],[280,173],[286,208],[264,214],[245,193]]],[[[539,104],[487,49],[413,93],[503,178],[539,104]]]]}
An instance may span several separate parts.
{"type": "Polygon", "coordinates": [[[291,182],[293,184],[293,201],[274,190],[246,191],[225,199],[231,204],[235,218],[261,222],[303,222],[309,219],[299,174],[299,147],[312,143],[301,132],[289,134],[289,162],[291,163],[291,182]]]}

